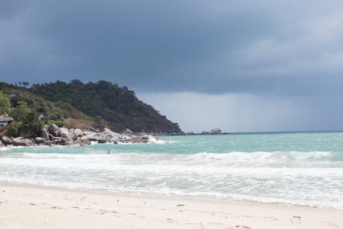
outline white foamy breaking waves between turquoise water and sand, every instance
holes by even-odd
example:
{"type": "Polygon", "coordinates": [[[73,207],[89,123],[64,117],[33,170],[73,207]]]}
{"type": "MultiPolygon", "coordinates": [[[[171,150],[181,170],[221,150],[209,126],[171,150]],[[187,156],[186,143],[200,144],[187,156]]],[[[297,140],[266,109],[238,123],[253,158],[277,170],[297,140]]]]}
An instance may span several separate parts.
{"type": "MultiPolygon", "coordinates": [[[[142,147],[151,146],[165,147],[142,147]]],[[[120,147],[126,148],[117,150],[141,148],[120,147]]],[[[116,153],[111,149],[108,155],[104,149],[97,144],[49,147],[37,150],[40,153],[24,148],[9,151],[0,155],[0,180],[343,209],[343,162],[336,160],[340,154],[335,152],[187,154],[116,153]],[[29,153],[32,151],[36,153],[29,153]]]]}

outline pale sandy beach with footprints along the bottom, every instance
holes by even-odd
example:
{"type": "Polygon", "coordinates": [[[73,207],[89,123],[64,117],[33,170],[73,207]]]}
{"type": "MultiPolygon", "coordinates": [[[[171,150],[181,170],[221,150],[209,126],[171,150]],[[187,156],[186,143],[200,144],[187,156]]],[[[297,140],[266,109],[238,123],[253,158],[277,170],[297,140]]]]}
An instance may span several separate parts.
{"type": "Polygon", "coordinates": [[[343,228],[343,211],[0,183],[0,228],[343,228]],[[180,205],[180,206],[179,206],[180,205]]]}

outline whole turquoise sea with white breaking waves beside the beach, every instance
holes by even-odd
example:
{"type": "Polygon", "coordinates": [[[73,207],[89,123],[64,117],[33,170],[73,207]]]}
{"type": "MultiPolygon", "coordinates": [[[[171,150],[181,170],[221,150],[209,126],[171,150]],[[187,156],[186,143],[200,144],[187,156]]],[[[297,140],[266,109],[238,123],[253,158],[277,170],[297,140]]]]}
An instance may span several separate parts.
{"type": "Polygon", "coordinates": [[[343,209],[343,132],[160,138],[151,144],[14,147],[0,152],[0,181],[343,209]]]}

